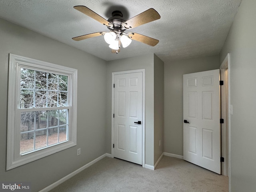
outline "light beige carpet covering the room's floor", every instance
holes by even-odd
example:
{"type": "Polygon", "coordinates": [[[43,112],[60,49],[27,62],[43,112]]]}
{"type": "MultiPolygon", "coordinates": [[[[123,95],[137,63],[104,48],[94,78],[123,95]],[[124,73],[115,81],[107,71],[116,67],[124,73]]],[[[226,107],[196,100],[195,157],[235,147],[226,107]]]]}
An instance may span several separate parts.
{"type": "Polygon", "coordinates": [[[228,177],[168,156],[154,171],[106,157],[50,192],[228,192],[228,177]]]}

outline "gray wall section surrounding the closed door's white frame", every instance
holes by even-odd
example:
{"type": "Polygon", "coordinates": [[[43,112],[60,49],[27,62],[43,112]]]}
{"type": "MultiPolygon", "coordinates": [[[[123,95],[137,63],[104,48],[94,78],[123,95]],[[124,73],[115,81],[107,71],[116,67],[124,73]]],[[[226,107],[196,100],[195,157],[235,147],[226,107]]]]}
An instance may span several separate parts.
{"type": "Polygon", "coordinates": [[[145,69],[145,164],[154,166],[154,54],[108,62],[106,151],[111,153],[112,72],[136,69],[145,69]]]}

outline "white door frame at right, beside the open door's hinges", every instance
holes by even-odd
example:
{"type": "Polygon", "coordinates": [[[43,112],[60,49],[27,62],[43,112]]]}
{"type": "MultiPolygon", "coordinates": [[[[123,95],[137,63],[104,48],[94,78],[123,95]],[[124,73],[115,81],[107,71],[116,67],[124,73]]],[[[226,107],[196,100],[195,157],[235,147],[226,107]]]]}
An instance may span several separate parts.
{"type": "MultiPolygon", "coordinates": [[[[222,157],[222,175],[230,177],[230,54],[228,53],[226,58],[220,65],[220,80],[224,81],[224,86],[221,92],[221,118],[224,119],[222,124],[221,135],[221,149],[222,157]],[[228,83],[225,83],[228,82],[228,83]],[[225,123],[226,122],[226,123],[225,123]]],[[[230,189],[230,179],[229,179],[230,189]]]]}

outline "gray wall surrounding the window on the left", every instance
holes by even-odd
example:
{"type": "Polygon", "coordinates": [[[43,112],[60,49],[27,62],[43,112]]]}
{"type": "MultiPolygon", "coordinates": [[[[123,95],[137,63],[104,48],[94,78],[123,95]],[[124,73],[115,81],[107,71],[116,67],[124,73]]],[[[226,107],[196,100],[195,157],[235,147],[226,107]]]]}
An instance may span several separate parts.
{"type": "Polygon", "coordinates": [[[106,153],[104,60],[0,19],[0,66],[0,181],[29,181],[39,191],[106,153]],[[78,117],[77,146],[6,171],[9,53],[78,69],[78,117]]]}

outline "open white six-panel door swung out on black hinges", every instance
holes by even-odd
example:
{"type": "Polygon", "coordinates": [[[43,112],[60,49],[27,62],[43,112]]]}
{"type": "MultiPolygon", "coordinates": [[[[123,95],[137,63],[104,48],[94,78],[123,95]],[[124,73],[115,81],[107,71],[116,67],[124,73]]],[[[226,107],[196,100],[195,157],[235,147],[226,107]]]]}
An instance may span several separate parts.
{"type": "Polygon", "coordinates": [[[183,117],[184,160],[220,174],[218,69],[183,76],[183,117]]]}

